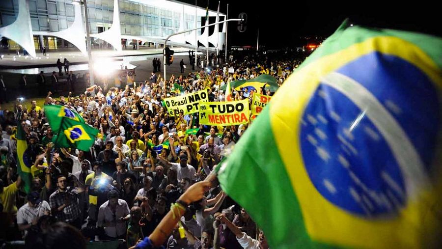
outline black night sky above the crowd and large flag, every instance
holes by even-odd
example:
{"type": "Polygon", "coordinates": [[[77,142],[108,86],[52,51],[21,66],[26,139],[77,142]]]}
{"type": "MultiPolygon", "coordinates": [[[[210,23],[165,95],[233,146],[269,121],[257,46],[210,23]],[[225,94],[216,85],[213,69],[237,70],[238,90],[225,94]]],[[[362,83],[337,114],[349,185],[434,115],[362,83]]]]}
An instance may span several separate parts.
{"type": "MultiPolygon", "coordinates": [[[[194,0],[183,2],[195,3],[194,0]]],[[[442,28],[437,25],[441,23],[440,9],[422,1],[390,4],[387,1],[362,0],[336,4],[319,1],[221,0],[222,13],[226,12],[227,2],[229,18],[237,18],[241,12],[249,16],[248,28],[244,33],[237,31],[236,23],[229,25],[229,46],[256,47],[258,27],[260,45],[273,48],[304,45],[300,36],[328,37],[347,17],[355,25],[442,36],[442,28]]],[[[197,4],[205,8],[207,0],[197,0],[197,4]]],[[[209,0],[209,8],[216,11],[218,0],[209,0]]],[[[215,18],[212,19],[210,22],[215,21],[215,18]]]]}

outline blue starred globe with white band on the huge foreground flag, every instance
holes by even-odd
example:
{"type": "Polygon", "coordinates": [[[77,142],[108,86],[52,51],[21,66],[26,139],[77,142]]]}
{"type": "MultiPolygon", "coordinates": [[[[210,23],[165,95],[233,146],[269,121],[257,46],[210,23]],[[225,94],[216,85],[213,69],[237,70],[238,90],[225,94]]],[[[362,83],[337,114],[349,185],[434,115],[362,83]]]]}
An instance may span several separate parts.
{"type": "Polygon", "coordinates": [[[355,215],[396,217],[430,171],[434,155],[426,148],[436,146],[437,93],[413,64],[376,52],[321,79],[300,134],[305,168],[318,192],[355,215]],[[376,70],[360,68],[379,64],[389,70],[370,74],[376,70]],[[425,134],[415,130],[413,115],[425,134]]]}

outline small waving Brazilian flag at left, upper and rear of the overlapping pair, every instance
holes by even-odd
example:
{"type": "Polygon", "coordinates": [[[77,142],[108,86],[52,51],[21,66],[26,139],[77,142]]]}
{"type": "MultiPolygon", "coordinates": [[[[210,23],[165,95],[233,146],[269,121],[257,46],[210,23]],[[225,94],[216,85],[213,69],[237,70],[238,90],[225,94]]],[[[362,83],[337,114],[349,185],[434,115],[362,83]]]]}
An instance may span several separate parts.
{"type": "Polygon", "coordinates": [[[64,106],[46,105],[45,114],[54,134],[58,134],[63,118],[84,123],[83,117],[77,111],[64,106]]]}

